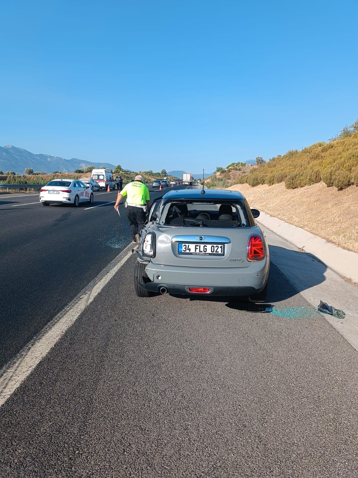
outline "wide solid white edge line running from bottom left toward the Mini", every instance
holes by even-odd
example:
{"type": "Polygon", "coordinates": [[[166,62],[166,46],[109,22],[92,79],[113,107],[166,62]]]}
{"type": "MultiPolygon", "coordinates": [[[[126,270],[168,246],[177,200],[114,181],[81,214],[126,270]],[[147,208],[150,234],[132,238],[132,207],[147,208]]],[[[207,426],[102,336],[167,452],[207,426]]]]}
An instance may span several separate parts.
{"type": "Polygon", "coordinates": [[[14,359],[0,370],[0,407],[30,375],[32,370],[48,354],[64,333],[74,324],[85,308],[112,279],[132,255],[133,244],[128,244],[117,257],[101,271],[93,281],[57,314],[41,332],[21,349],[14,359]]]}

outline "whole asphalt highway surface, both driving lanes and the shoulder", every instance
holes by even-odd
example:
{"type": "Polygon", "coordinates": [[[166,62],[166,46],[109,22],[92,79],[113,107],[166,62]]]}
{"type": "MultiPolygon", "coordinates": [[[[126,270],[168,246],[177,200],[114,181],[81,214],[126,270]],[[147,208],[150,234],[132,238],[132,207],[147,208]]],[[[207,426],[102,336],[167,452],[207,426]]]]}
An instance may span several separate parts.
{"type": "MultiPolygon", "coordinates": [[[[15,200],[32,202],[0,196],[3,363],[130,240],[113,203],[15,200]]],[[[134,261],[0,408],[1,477],[358,477],[357,351],[274,264],[270,314],[136,298],[134,261]]]]}

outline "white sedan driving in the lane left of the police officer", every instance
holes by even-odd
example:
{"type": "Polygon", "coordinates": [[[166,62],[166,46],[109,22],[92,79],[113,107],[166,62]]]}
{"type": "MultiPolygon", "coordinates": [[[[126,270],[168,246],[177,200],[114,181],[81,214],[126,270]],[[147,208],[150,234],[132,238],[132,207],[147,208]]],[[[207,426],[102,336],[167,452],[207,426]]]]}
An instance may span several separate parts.
{"type": "Polygon", "coordinates": [[[78,179],[53,179],[40,190],[43,206],[50,203],[68,203],[77,207],[82,202],[93,203],[93,192],[78,179]]]}

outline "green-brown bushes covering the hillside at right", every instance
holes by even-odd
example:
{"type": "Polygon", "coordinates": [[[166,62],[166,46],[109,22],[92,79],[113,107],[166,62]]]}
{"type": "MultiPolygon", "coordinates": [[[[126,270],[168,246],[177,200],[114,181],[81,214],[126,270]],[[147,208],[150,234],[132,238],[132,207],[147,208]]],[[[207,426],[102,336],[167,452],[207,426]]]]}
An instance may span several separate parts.
{"type": "Polygon", "coordinates": [[[329,142],[318,142],[301,151],[288,151],[284,156],[278,155],[252,167],[247,174],[232,178],[229,167],[221,169],[207,181],[209,187],[245,183],[271,186],[284,182],[287,189],[295,189],[323,181],[341,190],[358,185],[358,121],[345,127],[341,135],[329,142]]]}

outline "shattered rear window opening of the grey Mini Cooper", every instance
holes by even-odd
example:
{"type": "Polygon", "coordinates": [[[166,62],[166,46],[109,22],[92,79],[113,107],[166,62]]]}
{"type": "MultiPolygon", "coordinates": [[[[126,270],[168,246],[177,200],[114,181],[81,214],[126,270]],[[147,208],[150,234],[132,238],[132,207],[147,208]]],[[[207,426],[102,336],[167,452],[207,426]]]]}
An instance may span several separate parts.
{"type": "Polygon", "coordinates": [[[166,202],[159,207],[159,224],[203,228],[249,228],[245,205],[238,201],[166,202]]]}

